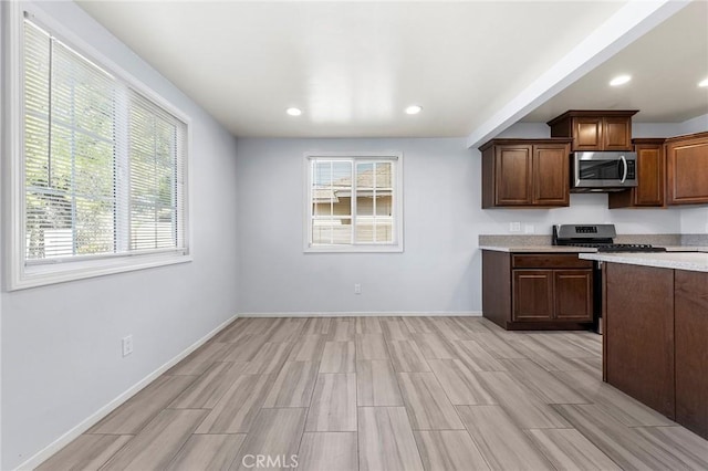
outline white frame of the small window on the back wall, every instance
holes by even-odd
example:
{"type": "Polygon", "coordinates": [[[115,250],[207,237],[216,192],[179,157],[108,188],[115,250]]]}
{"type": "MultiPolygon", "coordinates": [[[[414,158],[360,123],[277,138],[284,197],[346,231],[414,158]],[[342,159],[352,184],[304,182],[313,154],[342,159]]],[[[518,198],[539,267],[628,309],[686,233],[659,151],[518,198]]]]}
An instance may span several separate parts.
{"type": "MultiPolygon", "coordinates": [[[[303,217],[303,247],[305,253],[400,253],[404,251],[404,202],[403,202],[403,153],[400,151],[306,151],[303,158],[304,167],[304,217],[303,217]],[[356,178],[356,164],[371,161],[392,161],[394,175],[392,176],[394,203],[393,228],[394,241],[392,243],[351,243],[351,244],[312,244],[312,161],[319,159],[352,161],[352,181],[356,178]]],[[[355,187],[354,187],[355,188],[355,187]]],[[[352,195],[355,201],[356,196],[352,195]]],[[[354,203],[355,208],[356,205],[354,203]]],[[[354,222],[356,216],[352,214],[354,222]]],[[[353,234],[354,237],[354,234],[353,234]]]]}

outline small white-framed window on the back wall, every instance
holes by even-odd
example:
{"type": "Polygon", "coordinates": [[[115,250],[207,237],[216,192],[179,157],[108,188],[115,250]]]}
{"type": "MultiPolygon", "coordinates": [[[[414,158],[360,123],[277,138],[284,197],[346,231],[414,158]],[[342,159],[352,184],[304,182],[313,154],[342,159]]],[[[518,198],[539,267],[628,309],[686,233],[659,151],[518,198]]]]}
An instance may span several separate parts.
{"type": "Polygon", "coordinates": [[[400,154],[308,154],[306,251],[400,252],[400,154]]]}

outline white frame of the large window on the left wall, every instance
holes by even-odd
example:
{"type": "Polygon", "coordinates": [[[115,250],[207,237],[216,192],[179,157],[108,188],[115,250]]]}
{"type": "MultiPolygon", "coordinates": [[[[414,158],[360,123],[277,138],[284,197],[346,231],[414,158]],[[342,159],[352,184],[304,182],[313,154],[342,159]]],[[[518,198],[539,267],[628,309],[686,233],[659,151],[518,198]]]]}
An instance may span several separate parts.
{"type": "MultiPolygon", "coordinates": [[[[7,30],[4,52],[7,69],[3,70],[6,86],[2,90],[2,135],[9,159],[6,161],[2,179],[3,211],[8,216],[6,220],[3,247],[4,289],[7,291],[43,286],[54,283],[63,283],[74,280],[103,276],[114,273],[123,273],[135,270],[144,270],[156,266],[171,265],[192,261],[191,255],[191,224],[189,214],[191,201],[189,190],[191,187],[191,119],[166,98],[154,92],[142,81],[126,72],[82,38],[69,31],[66,27],[55,21],[39,6],[31,2],[7,2],[3,29],[7,30]],[[142,94],[157,106],[162,107],[175,118],[185,124],[184,146],[185,155],[181,161],[183,182],[183,248],[154,250],[147,252],[107,253],[101,255],[86,255],[76,260],[53,261],[46,259],[43,263],[27,260],[25,247],[25,187],[24,187],[24,15],[27,14],[41,25],[51,31],[53,35],[66,43],[70,48],[92,61],[98,67],[108,71],[116,80],[121,81],[135,93],[142,94]]],[[[178,240],[180,237],[178,236],[178,240]]]]}

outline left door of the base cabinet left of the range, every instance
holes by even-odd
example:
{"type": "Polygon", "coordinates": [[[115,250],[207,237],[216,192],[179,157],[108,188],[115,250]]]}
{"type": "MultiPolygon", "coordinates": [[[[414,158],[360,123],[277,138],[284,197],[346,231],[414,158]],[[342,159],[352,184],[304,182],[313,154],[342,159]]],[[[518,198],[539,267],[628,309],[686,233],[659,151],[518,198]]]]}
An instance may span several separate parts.
{"type": "Polygon", "coordinates": [[[553,270],[513,271],[513,320],[553,318],[553,270]]]}

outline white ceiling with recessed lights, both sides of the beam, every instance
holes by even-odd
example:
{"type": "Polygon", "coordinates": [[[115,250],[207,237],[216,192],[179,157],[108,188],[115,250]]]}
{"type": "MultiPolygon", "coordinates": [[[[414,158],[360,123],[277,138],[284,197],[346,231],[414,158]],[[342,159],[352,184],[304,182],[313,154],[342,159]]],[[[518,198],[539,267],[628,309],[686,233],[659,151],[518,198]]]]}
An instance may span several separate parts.
{"type": "MultiPolygon", "coordinates": [[[[77,3],[237,136],[430,137],[488,123],[628,2],[77,3]],[[423,112],[404,114],[412,104],[423,112]]],[[[706,8],[694,1],[524,121],[570,108],[638,108],[650,122],[708,113],[696,86],[708,77],[706,8]],[[611,90],[616,72],[635,78],[611,90]]]]}

